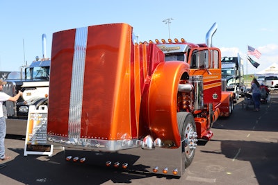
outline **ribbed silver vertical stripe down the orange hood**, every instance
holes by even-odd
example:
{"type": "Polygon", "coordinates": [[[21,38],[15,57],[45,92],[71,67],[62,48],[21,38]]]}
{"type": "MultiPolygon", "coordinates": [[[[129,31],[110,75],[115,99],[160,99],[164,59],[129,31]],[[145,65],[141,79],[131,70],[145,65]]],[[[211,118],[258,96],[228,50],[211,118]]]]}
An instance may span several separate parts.
{"type": "Polygon", "coordinates": [[[74,59],[72,62],[72,87],[70,90],[69,130],[70,138],[79,138],[81,133],[81,112],[83,100],[83,79],[88,27],[76,28],[74,59]]]}

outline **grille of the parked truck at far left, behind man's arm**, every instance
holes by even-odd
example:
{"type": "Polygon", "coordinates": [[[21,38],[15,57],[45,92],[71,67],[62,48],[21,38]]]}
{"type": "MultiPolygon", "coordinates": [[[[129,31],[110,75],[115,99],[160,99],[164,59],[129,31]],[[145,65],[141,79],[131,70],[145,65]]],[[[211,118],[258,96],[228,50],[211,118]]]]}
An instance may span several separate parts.
{"type": "MultiPolygon", "coordinates": [[[[7,82],[6,85],[3,85],[3,92],[10,95],[15,96],[16,85],[14,82],[7,82]]],[[[13,101],[6,101],[5,103],[7,108],[7,116],[16,116],[16,103],[13,101]]]]}

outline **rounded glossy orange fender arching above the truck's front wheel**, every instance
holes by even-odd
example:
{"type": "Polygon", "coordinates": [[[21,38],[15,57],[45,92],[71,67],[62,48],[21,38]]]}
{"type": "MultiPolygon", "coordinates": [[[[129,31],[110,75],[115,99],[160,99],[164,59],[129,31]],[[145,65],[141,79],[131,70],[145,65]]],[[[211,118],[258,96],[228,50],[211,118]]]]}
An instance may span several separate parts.
{"type": "Polygon", "coordinates": [[[149,129],[156,139],[180,146],[177,125],[177,91],[179,80],[189,70],[185,62],[161,62],[152,74],[147,95],[149,129]]]}

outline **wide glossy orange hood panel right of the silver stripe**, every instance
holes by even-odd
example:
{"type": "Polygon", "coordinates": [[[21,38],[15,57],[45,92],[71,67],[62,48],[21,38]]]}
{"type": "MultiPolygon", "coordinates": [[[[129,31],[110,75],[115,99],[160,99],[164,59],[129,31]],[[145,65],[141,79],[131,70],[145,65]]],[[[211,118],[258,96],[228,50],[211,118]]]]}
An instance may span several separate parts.
{"type": "Polygon", "coordinates": [[[131,26],[89,27],[84,75],[81,136],[130,139],[131,26]]]}

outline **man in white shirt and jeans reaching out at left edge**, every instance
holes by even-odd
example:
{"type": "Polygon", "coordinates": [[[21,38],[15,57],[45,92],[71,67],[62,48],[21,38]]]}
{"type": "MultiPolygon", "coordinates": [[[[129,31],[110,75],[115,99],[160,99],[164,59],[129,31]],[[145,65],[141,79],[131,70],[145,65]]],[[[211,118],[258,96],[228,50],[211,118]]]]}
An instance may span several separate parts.
{"type": "Polygon", "coordinates": [[[3,115],[3,102],[6,100],[9,101],[17,101],[19,96],[22,96],[22,91],[19,91],[15,96],[9,96],[8,94],[2,92],[3,85],[6,85],[7,82],[0,80],[0,159],[1,161],[10,159],[10,156],[6,155],[5,153],[5,136],[6,136],[6,118],[3,115]]]}

